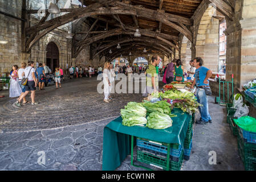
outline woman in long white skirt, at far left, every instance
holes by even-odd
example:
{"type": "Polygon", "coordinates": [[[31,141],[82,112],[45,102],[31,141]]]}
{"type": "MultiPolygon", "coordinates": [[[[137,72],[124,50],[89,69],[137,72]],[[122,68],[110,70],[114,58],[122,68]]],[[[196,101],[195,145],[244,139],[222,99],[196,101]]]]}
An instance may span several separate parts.
{"type": "Polygon", "coordinates": [[[22,89],[19,85],[18,66],[14,65],[13,72],[11,73],[9,97],[19,97],[21,96],[21,93],[22,89]]]}

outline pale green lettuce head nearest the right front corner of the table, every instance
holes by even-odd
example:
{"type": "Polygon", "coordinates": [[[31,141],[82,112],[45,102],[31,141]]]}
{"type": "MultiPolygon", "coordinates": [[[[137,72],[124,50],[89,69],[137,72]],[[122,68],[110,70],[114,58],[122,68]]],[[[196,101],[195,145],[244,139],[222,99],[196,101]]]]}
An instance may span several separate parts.
{"type": "Polygon", "coordinates": [[[150,129],[166,129],[172,126],[172,119],[167,114],[159,112],[150,113],[147,117],[147,127],[150,129]]]}

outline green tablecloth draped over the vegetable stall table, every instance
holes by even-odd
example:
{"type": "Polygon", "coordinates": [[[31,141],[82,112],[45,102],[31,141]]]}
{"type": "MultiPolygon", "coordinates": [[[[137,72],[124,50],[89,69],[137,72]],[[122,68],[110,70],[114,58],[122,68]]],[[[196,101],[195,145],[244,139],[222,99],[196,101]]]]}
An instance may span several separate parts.
{"type": "Polygon", "coordinates": [[[184,146],[186,131],[191,115],[180,109],[173,109],[172,127],[164,130],[149,129],[143,126],[123,126],[122,118],[118,117],[104,127],[103,136],[103,164],[104,171],[113,171],[131,153],[131,135],[147,138],[163,143],[178,143],[184,146]]]}

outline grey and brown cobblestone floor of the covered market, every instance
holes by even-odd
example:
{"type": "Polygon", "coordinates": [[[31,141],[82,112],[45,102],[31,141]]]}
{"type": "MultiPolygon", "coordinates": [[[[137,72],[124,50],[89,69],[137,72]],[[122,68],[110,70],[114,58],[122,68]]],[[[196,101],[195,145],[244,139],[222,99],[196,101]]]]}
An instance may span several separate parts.
{"type": "MultiPolygon", "coordinates": [[[[114,94],[109,104],[96,92],[99,81],[79,78],[36,92],[39,105],[18,109],[15,99],[0,100],[0,170],[101,170],[103,129],[129,101],[140,94],[114,94]],[[26,113],[30,113],[27,115],[26,113]],[[38,152],[46,164],[38,164],[38,152]]],[[[30,99],[28,99],[30,100],[30,99]]],[[[243,169],[237,140],[225,123],[225,109],[210,98],[213,123],[194,126],[190,160],[183,170],[243,169]],[[217,152],[217,165],[210,165],[209,151],[217,152]]],[[[131,166],[131,156],[117,170],[143,170],[131,166]]]]}

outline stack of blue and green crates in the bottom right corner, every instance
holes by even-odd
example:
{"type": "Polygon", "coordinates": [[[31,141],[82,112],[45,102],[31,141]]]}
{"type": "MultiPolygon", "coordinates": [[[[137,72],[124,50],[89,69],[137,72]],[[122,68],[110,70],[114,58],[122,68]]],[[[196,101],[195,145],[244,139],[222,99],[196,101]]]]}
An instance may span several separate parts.
{"type": "Polygon", "coordinates": [[[238,127],[238,152],[246,171],[256,171],[256,133],[238,127]]]}

